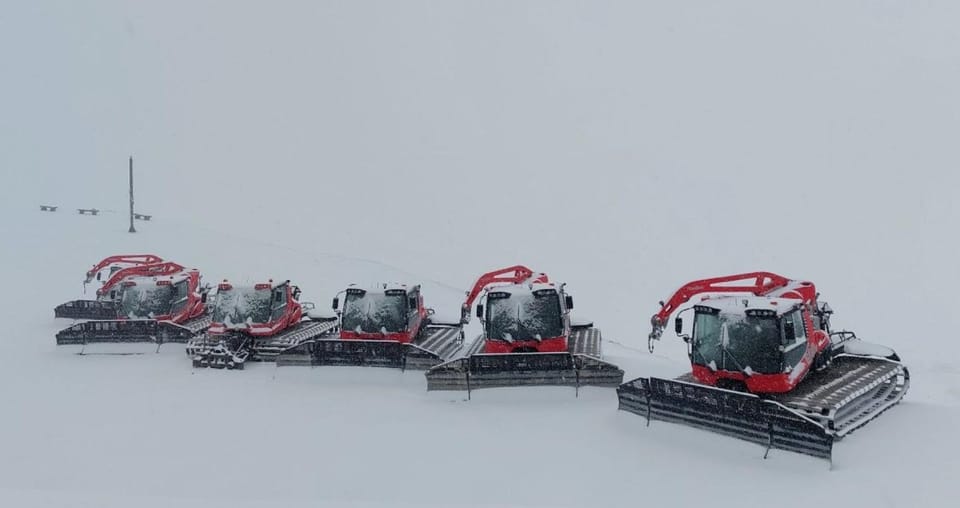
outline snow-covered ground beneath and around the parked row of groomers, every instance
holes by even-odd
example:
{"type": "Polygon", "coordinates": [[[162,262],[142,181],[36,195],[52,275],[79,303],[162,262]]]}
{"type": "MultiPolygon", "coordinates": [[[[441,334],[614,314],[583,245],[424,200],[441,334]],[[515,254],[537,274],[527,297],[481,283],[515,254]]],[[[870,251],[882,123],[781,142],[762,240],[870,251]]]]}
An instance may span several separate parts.
{"type": "MultiPolygon", "coordinates": [[[[52,308],[79,294],[83,270],[106,252],[160,253],[196,264],[209,280],[280,267],[296,275],[305,299],[319,302],[358,277],[415,274],[162,219],[130,235],[115,216],[18,217],[4,224],[17,248],[7,253],[15,269],[0,305],[8,359],[0,371],[0,499],[9,506],[634,506],[705,498],[808,506],[811,496],[952,505],[960,383],[947,359],[939,370],[914,369],[906,402],[838,444],[830,471],[785,452],[763,460],[761,447],[709,433],[644,428],[617,411],[612,389],[584,389],[579,398],[566,388],[483,390],[466,401],[462,393],[427,393],[418,372],[194,370],[178,345],[156,355],[77,356],[54,345],[66,322],[54,320],[52,308]],[[815,495],[803,490],[811,485],[815,495]]],[[[462,296],[432,283],[424,293],[431,305],[454,309],[462,296]]],[[[608,360],[628,378],[686,369],[682,355],[641,351],[644,331],[607,329],[608,360]]]]}

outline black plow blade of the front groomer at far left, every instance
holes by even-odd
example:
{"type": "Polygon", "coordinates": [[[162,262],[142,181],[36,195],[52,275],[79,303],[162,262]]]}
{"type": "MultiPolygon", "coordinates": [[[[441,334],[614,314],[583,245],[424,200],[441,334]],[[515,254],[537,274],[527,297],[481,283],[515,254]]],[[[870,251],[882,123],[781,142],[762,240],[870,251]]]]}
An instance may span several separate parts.
{"type": "MultiPolygon", "coordinates": [[[[200,316],[182,324],[153,319],[85,321],[57,332],[57,345],[146,343],[159,347],[170,342],[185,344],[208,326],[210,318],[207,316],[200,316]]],[[[127,347],[124,351],[129,349],[127,347]]],[[[90,352],[84,349],[81,354],[90,352]]]]}

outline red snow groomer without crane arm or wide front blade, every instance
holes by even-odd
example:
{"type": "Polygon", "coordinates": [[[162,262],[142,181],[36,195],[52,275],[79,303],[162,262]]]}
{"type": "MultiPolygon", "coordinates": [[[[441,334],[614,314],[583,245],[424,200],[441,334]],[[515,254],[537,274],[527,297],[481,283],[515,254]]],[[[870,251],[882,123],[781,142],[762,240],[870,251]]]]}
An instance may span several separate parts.
{"type": "Polygon", "coordinates": [[[187,344],[194,367],[242,369],[247,360],[273,360],[280,352],[322,335],[335,320],[314,316],[289,280],[252,286],[217,286],[212,324],[187,344]],[[307,312],[305,312],[307,311],[307,312]]]}

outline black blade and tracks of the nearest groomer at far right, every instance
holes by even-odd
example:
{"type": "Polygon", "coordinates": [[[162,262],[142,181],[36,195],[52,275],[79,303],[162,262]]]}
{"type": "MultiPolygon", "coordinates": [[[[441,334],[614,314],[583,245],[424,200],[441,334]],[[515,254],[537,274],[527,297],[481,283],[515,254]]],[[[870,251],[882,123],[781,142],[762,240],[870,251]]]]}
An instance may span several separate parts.
{"type": "Polygon", "coordinates": [[[904,396],[907,369],[883,358],[839,355],[792,392],[757,395],[677,379],[637,378],[617,388],[619,409],[830,460],[833,444],[904,396]]]}

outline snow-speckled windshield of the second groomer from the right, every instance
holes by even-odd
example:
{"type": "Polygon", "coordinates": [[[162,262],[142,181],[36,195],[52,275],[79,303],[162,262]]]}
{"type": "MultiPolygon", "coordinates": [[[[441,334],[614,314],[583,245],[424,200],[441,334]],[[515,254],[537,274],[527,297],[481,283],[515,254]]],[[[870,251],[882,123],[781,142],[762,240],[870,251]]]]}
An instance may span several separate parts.
{"type": "Polygon", "coordinates": [[[544,290],[534,293],[491,292],[487,295],[487,337],[513,342],[563,335],[560,295],[544,290]]]}

